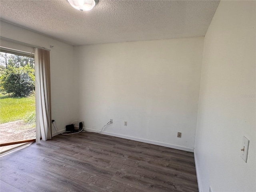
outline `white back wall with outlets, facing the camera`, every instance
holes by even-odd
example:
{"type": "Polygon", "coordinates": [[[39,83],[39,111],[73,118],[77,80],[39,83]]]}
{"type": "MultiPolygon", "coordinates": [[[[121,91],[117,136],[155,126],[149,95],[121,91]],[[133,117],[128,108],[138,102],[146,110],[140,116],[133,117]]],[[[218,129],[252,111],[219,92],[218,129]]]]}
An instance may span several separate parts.
{"type": "Polygon", "coordinates": [[[86,128],[101,130],[113,119],[104,133],[193,151],[203,41],[75,46],[79,115],[86,128]]]}

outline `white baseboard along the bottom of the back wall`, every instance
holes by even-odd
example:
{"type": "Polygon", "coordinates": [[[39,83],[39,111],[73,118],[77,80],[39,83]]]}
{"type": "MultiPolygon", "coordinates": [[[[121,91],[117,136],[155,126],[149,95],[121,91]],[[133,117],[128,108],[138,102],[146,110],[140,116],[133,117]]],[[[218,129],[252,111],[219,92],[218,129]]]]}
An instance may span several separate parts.
{"type": "MultiPolygon", "coordinates": [[[[90,129],[90,128],[84,128],[84,130],[92,131],[92,132],[99,132],[98,130],[90,129]]],[[[174,149],[179,149],[179,150],[188,151],[188,152],[194,152],[193,148],[187,148],[187,147],[182,147],[182,146],[178,146],[178,145],[162,143],[162,142],[158,142],[158,141],[152,141],[152,140],[147,140],[147,139],[130,137],[130,136],[116,134],[116,133],[110,133],[110,132],[106,132],[106,131],[102,131],[100,134],[120,137],[120,138],[124,138],[124,139],[130,139],[130,140],[134,140],[134,141],[139,141],[139,142],[144,142],[144,143],[149,143],[149,144],[154,144],[154,145],[159,145],[159,146],[164,146],[164,147],[169,147],[169,148],[174,148],[174,149]]]]}

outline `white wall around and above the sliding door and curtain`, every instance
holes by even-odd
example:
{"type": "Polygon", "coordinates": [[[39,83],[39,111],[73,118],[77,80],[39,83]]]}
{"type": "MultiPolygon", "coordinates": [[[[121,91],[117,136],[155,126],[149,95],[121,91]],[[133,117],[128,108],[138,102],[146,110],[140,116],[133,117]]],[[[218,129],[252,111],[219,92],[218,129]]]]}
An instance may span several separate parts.
{"type": "MultiPolygon", "coordinates": [[[[77,118],[74,94],[74,47],[1,21],[1,36],[50,49],[52,119],[59,130],[77,118]],[[53,45],[53,48],[50,48],[53,45]]],[[[52,127],[52,133],[55,133],[52,127]]],[[[55,134],[54,134],[55,135],[55,134]]]]}

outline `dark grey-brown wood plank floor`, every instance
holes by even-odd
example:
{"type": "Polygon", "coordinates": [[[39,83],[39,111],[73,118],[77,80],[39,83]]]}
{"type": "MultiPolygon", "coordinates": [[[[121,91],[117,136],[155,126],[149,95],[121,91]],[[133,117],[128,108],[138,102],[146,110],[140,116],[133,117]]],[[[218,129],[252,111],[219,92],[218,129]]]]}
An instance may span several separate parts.
{"type": "Polygon", "coordinates": [[[193,153],[103,134],[58,135],[0,160],[1,192],[198,191],[193,153]]]}

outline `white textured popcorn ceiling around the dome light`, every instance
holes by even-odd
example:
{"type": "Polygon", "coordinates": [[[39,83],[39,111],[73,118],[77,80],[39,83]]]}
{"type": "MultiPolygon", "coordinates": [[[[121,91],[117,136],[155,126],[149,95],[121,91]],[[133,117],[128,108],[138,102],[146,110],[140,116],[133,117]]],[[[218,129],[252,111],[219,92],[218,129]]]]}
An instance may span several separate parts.
{"type": "Polygon", "coordinates": [[[204,36],[219,1],[99,0],[80,12],[67,0],[1,0],[1,20],[71,45],[204,36]]]}

